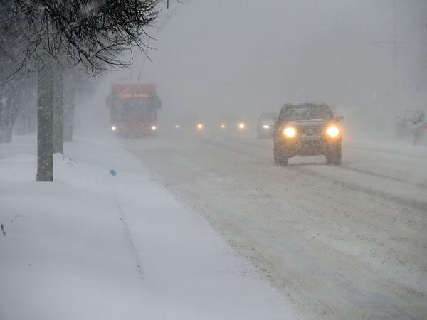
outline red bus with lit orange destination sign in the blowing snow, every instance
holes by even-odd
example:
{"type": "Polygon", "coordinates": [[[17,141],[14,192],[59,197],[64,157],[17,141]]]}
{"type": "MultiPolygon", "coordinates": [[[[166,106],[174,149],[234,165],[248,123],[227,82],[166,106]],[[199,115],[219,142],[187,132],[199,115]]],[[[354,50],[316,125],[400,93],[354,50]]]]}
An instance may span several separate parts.
{"type": "Polygon", "coordinates": [[[111,130],[119,137],[147,137],[157,132],[162,102],[154,83],[115,82],[107,97],[111,130]]]}

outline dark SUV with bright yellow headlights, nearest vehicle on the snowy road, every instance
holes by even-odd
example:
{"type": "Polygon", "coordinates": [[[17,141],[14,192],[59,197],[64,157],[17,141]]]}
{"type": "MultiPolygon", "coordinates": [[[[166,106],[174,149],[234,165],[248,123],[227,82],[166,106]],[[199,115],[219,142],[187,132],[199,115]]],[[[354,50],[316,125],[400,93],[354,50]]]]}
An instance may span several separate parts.
{"type": "Polygon", "coordinates": [[[327,164],[341,164],[341,129],[328,105],[284,105],[275,123],[274,161],[288,165],[292,156],[325,155],[327,164]]]}

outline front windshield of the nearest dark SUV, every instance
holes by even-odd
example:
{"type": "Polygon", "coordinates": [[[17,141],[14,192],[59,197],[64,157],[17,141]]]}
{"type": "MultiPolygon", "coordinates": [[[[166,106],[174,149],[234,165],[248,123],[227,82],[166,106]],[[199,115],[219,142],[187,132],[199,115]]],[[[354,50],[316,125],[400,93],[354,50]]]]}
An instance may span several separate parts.
{"type": "Polygon", "coordinates": [[[295,106],[287,107],[280,113],[280,120],[331,120],[332,111],[327,106],[295,106]]]}

